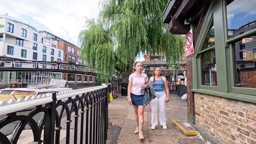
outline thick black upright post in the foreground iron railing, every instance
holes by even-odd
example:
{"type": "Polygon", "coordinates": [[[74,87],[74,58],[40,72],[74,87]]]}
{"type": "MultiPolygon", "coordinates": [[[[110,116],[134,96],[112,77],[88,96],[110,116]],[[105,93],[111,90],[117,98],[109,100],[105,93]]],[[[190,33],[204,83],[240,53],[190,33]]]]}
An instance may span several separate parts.
{"type": "Polygon", "coordinates": [[[45,107],[48,109],[48,113],[44,125],[44,143],[53,144],[55,133],[56,93],[53,93],[53,102],[46,104],[45,107]]]}

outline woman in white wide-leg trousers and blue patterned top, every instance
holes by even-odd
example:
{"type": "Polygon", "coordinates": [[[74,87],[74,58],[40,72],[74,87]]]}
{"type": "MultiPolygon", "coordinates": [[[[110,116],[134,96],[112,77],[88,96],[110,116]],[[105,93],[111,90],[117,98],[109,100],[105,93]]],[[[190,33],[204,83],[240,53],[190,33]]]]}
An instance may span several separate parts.
{"type": "Polygon", "coordinates": [[[151,101],[151,129],[154,130],[156,125],[158,125],[158,106],[160,125],[162,125],[163,129],[167,129],[165,103],[168,103],[170,100],[170,93],[168,82],[164,76],[161,76],[160,68],[155,68],[154,76],[150,77],[149,83],[152,85],[153,89],[158,95],[158,98],[151,101]]]}

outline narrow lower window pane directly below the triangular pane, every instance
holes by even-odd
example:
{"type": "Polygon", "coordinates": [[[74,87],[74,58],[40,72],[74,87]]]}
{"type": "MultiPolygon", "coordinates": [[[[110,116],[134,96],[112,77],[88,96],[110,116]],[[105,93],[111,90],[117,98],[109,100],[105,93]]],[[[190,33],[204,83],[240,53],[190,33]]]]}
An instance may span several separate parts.
{"type": "Polygon", "coordinates": [[[217,86],[215,50],[202,55],[202,85],[217,86]]]}

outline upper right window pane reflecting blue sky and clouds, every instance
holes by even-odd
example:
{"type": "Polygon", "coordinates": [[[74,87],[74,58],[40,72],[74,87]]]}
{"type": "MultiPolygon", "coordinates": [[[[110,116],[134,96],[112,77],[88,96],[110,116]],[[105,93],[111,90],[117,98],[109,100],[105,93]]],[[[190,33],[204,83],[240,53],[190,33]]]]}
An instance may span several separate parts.
{"type": "Polygon", "coordinates": [[[228,1],[226,6],[228,39],[234,38],[256,27],[256,1],[228,1]]]}

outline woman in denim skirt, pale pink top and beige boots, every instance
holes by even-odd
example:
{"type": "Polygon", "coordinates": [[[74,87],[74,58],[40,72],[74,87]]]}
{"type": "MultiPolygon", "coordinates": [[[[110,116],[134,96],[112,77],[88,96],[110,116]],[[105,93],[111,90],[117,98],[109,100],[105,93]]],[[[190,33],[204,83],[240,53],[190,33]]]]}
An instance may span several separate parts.
{"type": "Polygon", "coordinates": [[[127,101],[134,107],[135,119],[136,119],[136,130],[135,134],[139,134],[139,139],[143,137],[143,123],[144,123],[144,105],[143,95],[141,95],[141,89],[148,88],[146,83],[148,82],[148,76],[142,73],[142,63],[135,62],[134,67],[135,73],[129,76],[128,85],[128,97],[127,101]]]}

